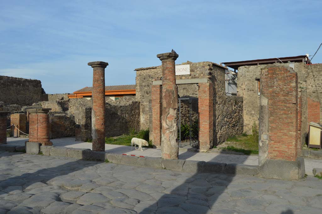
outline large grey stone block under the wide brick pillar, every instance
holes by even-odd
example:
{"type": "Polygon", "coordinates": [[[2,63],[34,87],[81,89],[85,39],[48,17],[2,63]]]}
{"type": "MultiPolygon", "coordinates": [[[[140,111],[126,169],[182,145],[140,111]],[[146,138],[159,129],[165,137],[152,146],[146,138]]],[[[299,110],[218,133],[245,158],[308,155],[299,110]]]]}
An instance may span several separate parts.
{"type": "Polygon", "coordinates": [[[259,167],[259,176],[283,180],[298,180],[305,175],[304,158],[298,157],[296,161],[266,160],[259,167]]]}

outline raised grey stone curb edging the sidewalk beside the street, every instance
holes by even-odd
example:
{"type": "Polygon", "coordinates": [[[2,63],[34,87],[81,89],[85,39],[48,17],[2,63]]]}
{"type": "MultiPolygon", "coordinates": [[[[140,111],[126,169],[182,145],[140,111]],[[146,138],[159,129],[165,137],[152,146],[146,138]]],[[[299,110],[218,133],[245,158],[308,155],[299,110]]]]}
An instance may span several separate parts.
{"type": "MultiPolygon", "coordinates": [[[[34,145],[33,145],[34,146],[34,145]]],[[[0,150],[8,152],[18,152],[24,146],[0,145],[0,150]]],[[[28,146],[27,146],[28,147],[28,146]]],[[[29,150],[28,150],[29,151],[29,150]]],[[[218,163],[190,160],[166,160],[158,157],[137,157],[122,154],[91,151],[90,149],[68,148],[62,146],[40,146],[43,155],[55,155],[71,157],[85,161],[109,161],[110,163],[120,163],[151,168],[161,168],[191,173],[226,173],[242,175],[258,175],[259,167],[254,165],[236,163],[218,163]]]]}

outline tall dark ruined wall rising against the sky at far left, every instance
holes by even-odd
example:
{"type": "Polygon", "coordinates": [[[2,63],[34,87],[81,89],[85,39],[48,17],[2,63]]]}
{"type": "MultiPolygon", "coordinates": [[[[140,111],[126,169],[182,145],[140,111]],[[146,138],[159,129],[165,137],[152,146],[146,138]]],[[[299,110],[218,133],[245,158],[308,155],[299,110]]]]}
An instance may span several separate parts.
{"type": "Polygon", "coordinates": [[[0,76],[0,101],[6,105],[32,105],[42,100],[40,80],[0,76]]]}

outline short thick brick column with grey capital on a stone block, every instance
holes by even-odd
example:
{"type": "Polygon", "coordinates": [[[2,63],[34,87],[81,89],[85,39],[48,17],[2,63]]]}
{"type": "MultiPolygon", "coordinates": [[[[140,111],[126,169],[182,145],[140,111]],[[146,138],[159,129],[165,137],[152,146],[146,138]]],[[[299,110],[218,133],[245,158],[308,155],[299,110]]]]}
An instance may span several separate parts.
{"type": "Polygon", "coordinates": [[[29,142],[41,143],[45,146],[52,145],[49,140],[49,115],[51,108],[32,108],[29,113],[29,142]]]}

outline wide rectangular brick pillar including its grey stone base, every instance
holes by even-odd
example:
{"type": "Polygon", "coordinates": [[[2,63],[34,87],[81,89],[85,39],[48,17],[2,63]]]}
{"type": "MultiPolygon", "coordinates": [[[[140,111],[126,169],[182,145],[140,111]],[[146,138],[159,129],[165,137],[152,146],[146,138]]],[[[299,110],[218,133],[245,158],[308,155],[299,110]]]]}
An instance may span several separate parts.
{"type": "Polygon", "coordinates": [[[298,78],[290,67],[267,66],[260,76],[260,173],[297,180],[305,174],[298,157],[298,78]]]}

